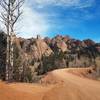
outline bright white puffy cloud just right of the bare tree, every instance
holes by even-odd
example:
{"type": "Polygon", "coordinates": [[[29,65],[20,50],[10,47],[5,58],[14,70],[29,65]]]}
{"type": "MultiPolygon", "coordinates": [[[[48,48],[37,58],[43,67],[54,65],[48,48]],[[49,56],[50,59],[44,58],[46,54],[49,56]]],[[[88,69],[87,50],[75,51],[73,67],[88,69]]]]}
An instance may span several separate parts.
{"type": "MultiPolygon", "coordinates": [[[[2,8],[0,8],[0,12],[1,10],[2,8]]],[[[22,10],[23,14],[15,25],[16,34],[24,38],[35,37],[37,34],[44,37],[48,29],[45,17],[32,9],[31,2],[28,0],[24,3],[22,10]]],[[[5,31],[1,22],[0,29],[5,31]]]]}

